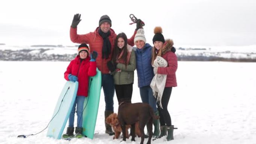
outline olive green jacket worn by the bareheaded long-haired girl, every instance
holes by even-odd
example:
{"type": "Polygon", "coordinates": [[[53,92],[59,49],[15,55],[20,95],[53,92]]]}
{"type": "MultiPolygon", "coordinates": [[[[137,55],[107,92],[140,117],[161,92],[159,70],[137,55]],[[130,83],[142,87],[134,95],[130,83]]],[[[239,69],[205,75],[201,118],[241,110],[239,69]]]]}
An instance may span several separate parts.
{"type": "Polygon", "coordinates": [[[136,58],[134,50],[131,46],[127,46],[128,52],[131,52],[130,60],[127,66],[122,63],[118,63],[116,68],[120,69],[121,72],[115,72],[114,83],[115,85],[127,85],[134,82],[134,71],[136,69],[136,58]]]}

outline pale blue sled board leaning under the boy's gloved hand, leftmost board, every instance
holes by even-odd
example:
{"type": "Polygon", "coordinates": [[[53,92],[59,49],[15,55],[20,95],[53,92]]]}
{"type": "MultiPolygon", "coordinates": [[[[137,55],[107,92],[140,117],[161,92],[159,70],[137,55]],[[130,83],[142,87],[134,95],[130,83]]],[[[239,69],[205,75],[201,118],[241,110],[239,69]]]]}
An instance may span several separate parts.
{"type": "Polygon", "coordinates": [[[51,122],[48,126],[47,137],[61,139],[68,117],[71,113],[76,93],[78,89],[78,82],[67,81],[60,97],[56,104],[51,122]]]}

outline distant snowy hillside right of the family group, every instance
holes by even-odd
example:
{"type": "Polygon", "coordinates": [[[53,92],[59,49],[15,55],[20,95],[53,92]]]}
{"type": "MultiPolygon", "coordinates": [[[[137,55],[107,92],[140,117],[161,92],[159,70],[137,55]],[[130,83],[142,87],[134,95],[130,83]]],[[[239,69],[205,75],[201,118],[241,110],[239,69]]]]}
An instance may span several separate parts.
{"type": "Polygon", "coordinates": [[[256,45],[252,46],[182,46],[179,60],[185,61],[256,61],[256,45]]]}

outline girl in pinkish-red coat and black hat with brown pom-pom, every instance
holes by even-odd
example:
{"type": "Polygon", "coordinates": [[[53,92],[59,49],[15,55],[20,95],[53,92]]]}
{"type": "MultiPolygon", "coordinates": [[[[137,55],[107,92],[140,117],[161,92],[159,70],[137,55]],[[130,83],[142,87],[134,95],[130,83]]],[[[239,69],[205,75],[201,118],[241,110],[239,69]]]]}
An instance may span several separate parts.
{"type": "Polygon", "coordinates": [[[158,111],[160,116],[160,130],[161,133],[159,138],[167,134],[167,141],[173,140],[173,129],[174,126],[171,124],[171,117],[168,112],[167,106],[171,96],[171,91],[173,87],[177,86],[176,82],[176,70],[178,67],[177,56],[175,54],[176,49],[173,47],[173,40],[165,40],[162,35],[162,28],[156,27],[154,29],[155,36],[153,37],[153,52],[152,52],[152,65],[156,56],[161,56],[164,58],[168,65],[167,67],[156,67],[154,68],[155,74],[166,74],[166,83],[164,92],[161,99],[161,104],[157,102],[158,111]],[[162,107],[160,106],[162,105],[162,107]]]}

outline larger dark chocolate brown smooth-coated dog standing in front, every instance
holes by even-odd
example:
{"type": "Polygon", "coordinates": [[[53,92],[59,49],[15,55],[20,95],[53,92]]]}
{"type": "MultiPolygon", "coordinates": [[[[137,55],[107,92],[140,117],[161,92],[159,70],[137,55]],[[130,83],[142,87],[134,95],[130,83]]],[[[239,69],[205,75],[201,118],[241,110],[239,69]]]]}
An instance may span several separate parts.
{"type": "MultiPolygon", "coordinates": [[[[125,125],[131,125],[132,141],[135,141],[135,123],[138,121],[141,133],[140,144],[143,144],[144,142],[144,127],[146,125],[147,131],[149,132],[149,140],[147,141],[147,144],[151,143],[153,119],[159,119],[159,116],[154,114],[154,110],[149,104],[142,102],[132,104],[129,99],[120,100],[118,120],[121,124],[123,135],[126,135],[125,125]]],[[[123,137],[123,141],[126,141],[126,137],[123,137]]]]}

